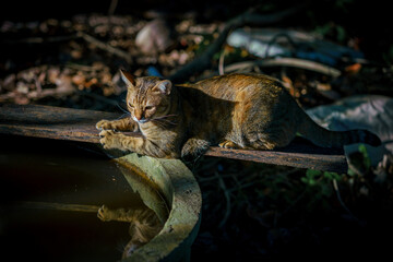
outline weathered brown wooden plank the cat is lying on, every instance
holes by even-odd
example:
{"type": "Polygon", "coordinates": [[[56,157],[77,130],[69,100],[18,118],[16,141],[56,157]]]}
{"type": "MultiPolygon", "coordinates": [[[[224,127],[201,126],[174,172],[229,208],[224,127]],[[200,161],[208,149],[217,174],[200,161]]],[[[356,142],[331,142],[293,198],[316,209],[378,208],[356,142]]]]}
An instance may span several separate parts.
{"type": "MultiPolygon", "coordinates": [[[[36,105],[0,105],[0,134],[99,143],[96,122],[119,117],[119,114],[93,110],[36,105]]],[[[343,150],[318,147],[300,139],[277,151],[227,150],[212,146],[205,155],[340,174],[347,171],[343,150]]]]}

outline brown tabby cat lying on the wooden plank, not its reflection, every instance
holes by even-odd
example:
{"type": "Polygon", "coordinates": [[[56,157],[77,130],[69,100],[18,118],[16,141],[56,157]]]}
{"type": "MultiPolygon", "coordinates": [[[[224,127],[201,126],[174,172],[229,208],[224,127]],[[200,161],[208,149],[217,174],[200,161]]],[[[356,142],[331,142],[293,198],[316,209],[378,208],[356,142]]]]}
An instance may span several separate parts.
{"type": "Polygon", "coordinates": [[[172,85],[169,80],[120,72],[128,86],[129,116],[96,124],[105,148],[160,158],[195,157],[216,144],[242,150],[285,147],[297,134],[322,147],[381,144],[367,130],[340,132],[320,127],[278,80],[267,75],[234,73],[172,85]],[[141,135],[116,130],[140,131],[141,135]]]}

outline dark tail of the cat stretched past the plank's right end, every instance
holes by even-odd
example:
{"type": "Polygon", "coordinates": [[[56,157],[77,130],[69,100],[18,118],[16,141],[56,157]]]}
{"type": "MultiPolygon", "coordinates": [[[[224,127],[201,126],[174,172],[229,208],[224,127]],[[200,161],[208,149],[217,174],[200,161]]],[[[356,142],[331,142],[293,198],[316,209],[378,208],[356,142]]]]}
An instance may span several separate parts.
{"type": "Polygon", "coordinates": [[[330,131],[315,123],[306,112],[299,122],[298,132],[313,144],[322,147],[342,147],[343,145],[366,143],[381,145],[381,140],[367,130],[330,131]]]}

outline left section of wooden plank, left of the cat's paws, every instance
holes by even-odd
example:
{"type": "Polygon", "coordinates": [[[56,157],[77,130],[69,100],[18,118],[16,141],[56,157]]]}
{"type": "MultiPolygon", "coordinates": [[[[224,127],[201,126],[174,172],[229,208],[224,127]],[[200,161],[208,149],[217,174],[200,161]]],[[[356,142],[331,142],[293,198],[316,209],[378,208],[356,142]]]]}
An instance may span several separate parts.
{"type": "Polygon", "coordinates": [[[71,108],[2,105],[0,133],[34,138],[99,143],[95,124],[100,119],[116,119],[111,112],[71,108]]]}

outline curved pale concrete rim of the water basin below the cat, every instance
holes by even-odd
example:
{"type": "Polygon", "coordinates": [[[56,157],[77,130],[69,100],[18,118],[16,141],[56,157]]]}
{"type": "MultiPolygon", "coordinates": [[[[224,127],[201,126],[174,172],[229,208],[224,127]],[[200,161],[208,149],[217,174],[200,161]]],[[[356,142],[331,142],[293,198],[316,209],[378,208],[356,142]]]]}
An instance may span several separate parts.
{"type": "Polygon", "coordinates": [[[122,261],[187,261],[201,223],[202,195],[193,174],[178,159],[158,159],[138,154],[117,158],[138,168],[156,184],[170,213],[163,229],[148,243],[122,261]]]}

